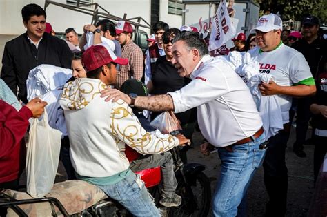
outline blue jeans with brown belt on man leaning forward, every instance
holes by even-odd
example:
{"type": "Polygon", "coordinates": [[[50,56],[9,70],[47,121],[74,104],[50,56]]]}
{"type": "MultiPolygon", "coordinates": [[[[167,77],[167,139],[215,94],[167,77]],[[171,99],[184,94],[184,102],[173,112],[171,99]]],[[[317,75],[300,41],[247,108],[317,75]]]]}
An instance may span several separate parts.
{"type": "Polygon", "coordinates": [[[246,197],[248,185],[264,160],[266,149],[259,149],[264,141],[266,137],[262,134],[255,141],[232,146],[233,152],[218,148],[221,172],[212,204],[214,216],[246,216],[246,210],[239,209],[237,213],[237,207],[246,197]]]}

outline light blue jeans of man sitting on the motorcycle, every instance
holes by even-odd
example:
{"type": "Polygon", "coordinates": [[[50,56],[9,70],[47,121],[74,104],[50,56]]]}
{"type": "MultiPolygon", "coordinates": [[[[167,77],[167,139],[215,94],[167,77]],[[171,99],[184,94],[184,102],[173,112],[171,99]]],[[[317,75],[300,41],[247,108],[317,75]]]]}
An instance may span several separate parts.
{"type": "Polygon", "coordinates": [[[113,185],[97,185],[110,198],[117,200],[133,216],[161,216],[151,194],[139,175],[131,172],[113,185]]]}

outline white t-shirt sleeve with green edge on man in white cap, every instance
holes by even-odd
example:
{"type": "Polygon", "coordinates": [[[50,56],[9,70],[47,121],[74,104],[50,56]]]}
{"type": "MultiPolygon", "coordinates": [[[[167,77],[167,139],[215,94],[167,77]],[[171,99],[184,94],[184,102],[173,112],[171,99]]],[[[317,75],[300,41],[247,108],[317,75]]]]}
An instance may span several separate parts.
{"type": "MultiPolygon", "coordinates": [[[[290,79],[295,84],[313,77],[308,62],[300,52],[294,54],[293,59],[290,61],[289,67],[290,79]]],[[[315,85],[315,83],[310,83],[309,85],[315,85]]]]}

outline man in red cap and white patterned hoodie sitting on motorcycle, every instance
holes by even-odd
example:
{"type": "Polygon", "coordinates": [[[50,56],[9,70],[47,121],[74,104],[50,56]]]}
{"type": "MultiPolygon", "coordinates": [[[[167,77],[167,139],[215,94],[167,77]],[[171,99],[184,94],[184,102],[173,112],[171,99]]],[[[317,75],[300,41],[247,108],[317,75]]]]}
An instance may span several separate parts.
{"type": "Polygon", "coordinates": [[[77,179],[97,185],[134,216],[160,216],[141,178],[129,168],[125,144],[141,154],[159,154],[186,138],[146,132],[127,103],[100,97],[116,83],[116,64],[127,65],[128,59],[99,44],[84,52],[82,62],[87,78],[67,83],[60,99],[77,179]]]}

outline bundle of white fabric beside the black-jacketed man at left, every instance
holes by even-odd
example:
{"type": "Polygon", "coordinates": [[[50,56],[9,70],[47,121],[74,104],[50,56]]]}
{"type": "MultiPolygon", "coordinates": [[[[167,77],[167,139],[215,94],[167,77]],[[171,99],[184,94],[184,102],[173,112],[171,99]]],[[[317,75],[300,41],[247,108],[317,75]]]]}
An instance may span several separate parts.
{"type": "Polygon", "coordinates": [[[63,110],[59,105],[59,98],[63,85],[72,76],[72,70],[60,68],[54,65],[39,65],[30,70],[26,81],[28,101],[35,97],[46,101],[48,112],[48,123],[50,127],[60,130],[62,136],[68,135],[63,110]]]}

